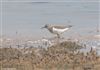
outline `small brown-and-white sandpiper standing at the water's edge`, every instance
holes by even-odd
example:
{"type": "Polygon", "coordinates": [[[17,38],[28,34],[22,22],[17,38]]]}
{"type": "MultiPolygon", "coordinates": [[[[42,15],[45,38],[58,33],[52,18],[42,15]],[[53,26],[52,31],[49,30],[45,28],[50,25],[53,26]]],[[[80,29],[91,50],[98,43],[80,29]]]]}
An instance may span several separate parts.
{"type": "Polygon", "coordinates": [[[42,28],[47,28],[51,33],[56,34],[57,37],[60,38],[60,34],[64,33],[65,31],[67,31],[71,27],[72,27],[72,25],[61,26],[61,25],[49,25],[49,24],[46,24],[42,28]]]}

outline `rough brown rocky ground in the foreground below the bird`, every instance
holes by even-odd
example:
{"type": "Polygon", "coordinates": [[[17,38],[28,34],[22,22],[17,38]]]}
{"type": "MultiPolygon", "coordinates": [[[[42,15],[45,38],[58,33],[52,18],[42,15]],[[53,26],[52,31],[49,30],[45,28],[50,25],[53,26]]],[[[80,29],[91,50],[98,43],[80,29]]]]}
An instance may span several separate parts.
{"type": "Polygon", "coordinates": [[[91,48],[64,41],[48,47],[0,48],[0,70],[99,70],[100,56],[91,48]]]}

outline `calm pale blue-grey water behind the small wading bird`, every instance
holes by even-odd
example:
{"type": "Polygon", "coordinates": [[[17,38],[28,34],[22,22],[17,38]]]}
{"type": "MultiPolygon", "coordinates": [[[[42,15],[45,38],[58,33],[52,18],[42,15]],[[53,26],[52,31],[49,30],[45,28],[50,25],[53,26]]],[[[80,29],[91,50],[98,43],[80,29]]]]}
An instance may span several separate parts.
{"type": "Polygon", "coordinates": [[[3,36],[52,37],[45,24],[73,25],[65,37],[96,34],[99,2],[3,2],[3,36]]]}

